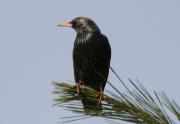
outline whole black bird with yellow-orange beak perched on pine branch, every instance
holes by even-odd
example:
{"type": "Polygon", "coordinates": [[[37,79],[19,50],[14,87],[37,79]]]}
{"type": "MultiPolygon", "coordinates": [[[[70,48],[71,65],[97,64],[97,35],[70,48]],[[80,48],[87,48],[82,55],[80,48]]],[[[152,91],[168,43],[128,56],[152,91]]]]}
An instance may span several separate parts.
{"type": "MultiPolygon", "coordinates": [[[[109,75],[111,46],[108,38],[101,33],[97,24],[88,17],[77,17],[58,26],[72,27],[76,31],[73,48],[73,67],[76,90],[88,86],[97,92],[98,104],[104,99],[104,88],[109,75]]],[[[82,100],[84,108],[97,103],[82,100]]]]}

